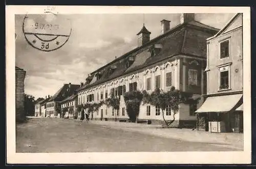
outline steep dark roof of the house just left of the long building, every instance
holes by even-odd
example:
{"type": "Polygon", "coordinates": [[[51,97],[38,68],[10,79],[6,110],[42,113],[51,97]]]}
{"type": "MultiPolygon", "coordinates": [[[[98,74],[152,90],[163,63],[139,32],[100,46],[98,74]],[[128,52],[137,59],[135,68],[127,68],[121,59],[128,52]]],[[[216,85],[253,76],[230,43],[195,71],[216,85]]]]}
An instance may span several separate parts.
{"type": "Polygon", "coordinates": [[[69,84],[64,84],[50,99],[49,101],[61,101],[67,96],[71,96],[80,87],[80,85],[72,85],[69,89],[69,84]],[[67,91],[69,89],[69,91],[67,91]],[[64,94],[64,96],[63,96],[64,94]]]}

